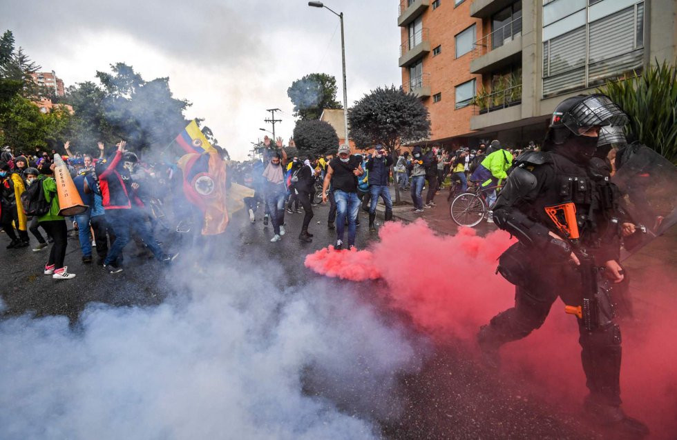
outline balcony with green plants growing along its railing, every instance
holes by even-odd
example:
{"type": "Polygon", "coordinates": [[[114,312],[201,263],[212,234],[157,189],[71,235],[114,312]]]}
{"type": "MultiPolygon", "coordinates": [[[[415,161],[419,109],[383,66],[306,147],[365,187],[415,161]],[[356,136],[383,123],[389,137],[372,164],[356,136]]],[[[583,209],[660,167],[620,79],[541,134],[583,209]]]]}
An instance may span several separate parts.
{"type": "Polygon", "coordinates": [[[481,130],[490,126],[511,123],[522,119],[522,84],[491,93],[479,92],[473,105],[470,129],[481,130]]]}

